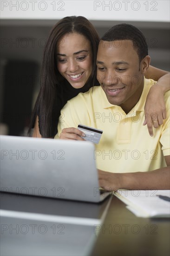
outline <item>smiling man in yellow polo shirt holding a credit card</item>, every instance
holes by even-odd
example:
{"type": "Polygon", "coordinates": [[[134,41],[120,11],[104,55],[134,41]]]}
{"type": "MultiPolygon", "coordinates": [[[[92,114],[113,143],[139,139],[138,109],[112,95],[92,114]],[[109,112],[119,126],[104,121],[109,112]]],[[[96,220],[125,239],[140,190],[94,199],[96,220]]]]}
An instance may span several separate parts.
{"type": "MultiPolygon", "coordinates": [[[[59,123],[55,138],[84,140],[78,124],[103,130],[94,157],[100,186],[107,190],[170,189],[169,92],[164,96],[167,118],[163,125],[153,137],[142,126],[144,102],[155,83],[144,78],[149,64],[146,40],[136,27],[111,27],[98,47],[101,87],[78,94],[61,111],[64,122],[59,123]]],[[[152,121],[157,127],[154,115],[152,121]]]]}

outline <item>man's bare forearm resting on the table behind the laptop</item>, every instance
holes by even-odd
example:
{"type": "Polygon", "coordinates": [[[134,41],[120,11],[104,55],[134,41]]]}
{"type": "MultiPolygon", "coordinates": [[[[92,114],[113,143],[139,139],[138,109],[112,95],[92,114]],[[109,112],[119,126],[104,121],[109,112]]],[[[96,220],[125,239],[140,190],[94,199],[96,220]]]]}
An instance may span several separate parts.
{"type": "Polygon", "coordinates": [[[165,156],[167,167],[149,172],[110,173],[98,170],[99,185],[105,190],[170,189],[170,155],[165,156]]]}

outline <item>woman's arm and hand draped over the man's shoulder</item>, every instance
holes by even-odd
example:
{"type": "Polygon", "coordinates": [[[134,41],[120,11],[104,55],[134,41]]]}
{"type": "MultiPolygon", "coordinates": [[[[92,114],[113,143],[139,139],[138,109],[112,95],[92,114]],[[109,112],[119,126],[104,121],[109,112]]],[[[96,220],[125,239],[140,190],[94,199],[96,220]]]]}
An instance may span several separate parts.
{"type": "Polygon", "coordinates": [[[150,88],[144,106],[144,125],[147,124],[149,134],[153,136],[153,126],[158,128],[159,125],[163,124],[163,119],[166,118],[163,94],[170,90],[170,73],[150,66],[147,73],[145,73],[145,77],[157,81],[157,84],[150,88]]]}

